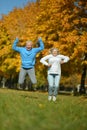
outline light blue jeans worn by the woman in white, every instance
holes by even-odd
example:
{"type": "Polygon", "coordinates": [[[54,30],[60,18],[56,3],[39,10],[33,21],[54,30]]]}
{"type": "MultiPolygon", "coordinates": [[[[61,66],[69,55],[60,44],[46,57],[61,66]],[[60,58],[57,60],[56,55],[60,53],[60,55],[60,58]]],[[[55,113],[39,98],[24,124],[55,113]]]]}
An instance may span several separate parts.
{"type": "Polygon", "coordinates": [[[48,94],[50,96],[52,95],[57,96],[59,83],[60,83],[60,77],[61,75],[59,74],[48,74],[48,84],[49,84],[48,94]]]}

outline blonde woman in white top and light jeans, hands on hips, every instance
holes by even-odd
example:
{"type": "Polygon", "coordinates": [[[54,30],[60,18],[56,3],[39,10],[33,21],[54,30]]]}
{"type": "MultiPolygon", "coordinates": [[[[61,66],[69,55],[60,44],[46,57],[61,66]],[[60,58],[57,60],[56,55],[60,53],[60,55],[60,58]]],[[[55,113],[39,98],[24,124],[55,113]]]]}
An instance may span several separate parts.
{"type": "Polygon", "coordinates": [[[56,101],[61,77],[61,64],[69,61],[68,56],[60,55],[57,48],[52,48],[49,55],[41,58],[40,62],[48,66],[48,100],[56,101]]]}

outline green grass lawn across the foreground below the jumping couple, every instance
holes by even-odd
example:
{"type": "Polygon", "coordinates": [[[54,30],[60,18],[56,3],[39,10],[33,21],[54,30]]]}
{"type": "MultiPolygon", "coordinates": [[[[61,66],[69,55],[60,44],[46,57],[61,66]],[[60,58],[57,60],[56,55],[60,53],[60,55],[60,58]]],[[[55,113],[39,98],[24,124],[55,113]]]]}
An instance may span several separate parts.
{"type": "Polygon", "coordinates": [[[87,130],[87,97],[0,89],[0,130],[87,130]]]}

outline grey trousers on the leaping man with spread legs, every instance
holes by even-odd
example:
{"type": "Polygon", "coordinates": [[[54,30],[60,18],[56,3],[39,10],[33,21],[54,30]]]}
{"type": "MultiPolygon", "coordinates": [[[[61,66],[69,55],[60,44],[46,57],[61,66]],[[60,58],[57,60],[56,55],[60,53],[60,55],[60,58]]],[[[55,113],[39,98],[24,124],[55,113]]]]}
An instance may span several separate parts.
{"type": "Polygon", "coordinates": [[[26,74],[28,74],[32,84],[36,84],[37,83],[34,68],[31,68],[31,69],[21,68],[20,73],[19,73],[19,80],[18,80],[19,84],[23,84],[24,83],[26,74]]]}

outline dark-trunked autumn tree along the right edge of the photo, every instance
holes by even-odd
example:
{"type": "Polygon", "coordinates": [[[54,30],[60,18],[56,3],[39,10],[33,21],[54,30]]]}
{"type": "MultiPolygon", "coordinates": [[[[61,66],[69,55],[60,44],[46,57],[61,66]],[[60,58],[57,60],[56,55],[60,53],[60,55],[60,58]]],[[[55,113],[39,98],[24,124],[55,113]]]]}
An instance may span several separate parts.
{"type": "Polygon", "coordinates": [[[84,51],[82,54],[82,76],[81,76],[81,84],[80,84],[80,93],[86,93],[85,89],[85,80],[87,75],[87,2],[86,0],[78,0],[75,2],[75,6],[78,8],[78,26],[76,26],[78,30],[78,35],[80,41],[84,45],[84,51]],[[81,40],[84,39],[84,40],[81,40]]]}

